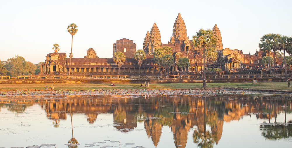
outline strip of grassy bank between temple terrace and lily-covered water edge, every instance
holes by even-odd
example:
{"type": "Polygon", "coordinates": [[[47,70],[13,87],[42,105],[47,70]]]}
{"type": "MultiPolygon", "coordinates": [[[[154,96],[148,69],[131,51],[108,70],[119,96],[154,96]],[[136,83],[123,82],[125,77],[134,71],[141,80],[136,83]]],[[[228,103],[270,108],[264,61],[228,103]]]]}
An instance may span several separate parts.
{"type": "MultiPolygon", "coordinates": [[[[76,90],[90,90],[90,89],[145,89],[140,87],[141,84],[116,84],[115,87],[109,84],[0,84],[0,89],[15,90],[15,89],[45,89],[54,85],[55,89],[76,89],[76,90]]],[[[176,88],[201,88],[202,83],[161,83],[150,84],[151,89],[176,89],[176,88]]],[[[237,87],[237,88],[256,88],[256,89],[276,89],[276,90],[292,90],[292,87],[287,87],[287,82],[260,82],[253,83],[207,83],[207,87],[237,87]]]]}

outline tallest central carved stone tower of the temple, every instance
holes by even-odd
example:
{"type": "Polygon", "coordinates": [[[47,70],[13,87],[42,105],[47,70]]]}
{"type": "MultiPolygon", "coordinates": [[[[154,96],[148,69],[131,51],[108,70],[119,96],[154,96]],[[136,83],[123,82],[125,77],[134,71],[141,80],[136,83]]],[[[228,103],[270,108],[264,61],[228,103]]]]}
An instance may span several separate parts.
{"type": "Polygon", "coordinates": [[[183,41],[186,42],[189,41],[189,39],[187,37],[187,29],[185,27],[185,22],[180,13],[178,13],[178,17],[176,17],[176,20],[173,25],[172,37],[170,38],[169,43],[171,44],[182,43],[183,41]]]}

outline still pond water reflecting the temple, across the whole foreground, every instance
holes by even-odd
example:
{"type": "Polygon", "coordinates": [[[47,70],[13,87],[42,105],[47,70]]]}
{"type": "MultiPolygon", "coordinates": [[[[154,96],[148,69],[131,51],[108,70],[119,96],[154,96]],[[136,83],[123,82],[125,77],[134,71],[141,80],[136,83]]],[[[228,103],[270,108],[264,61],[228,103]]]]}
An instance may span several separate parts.
{"type": "Polygon", "coordinates": [[[291,147],[291,111],[287,95],[0,98],[0,147],[291,147]]]}

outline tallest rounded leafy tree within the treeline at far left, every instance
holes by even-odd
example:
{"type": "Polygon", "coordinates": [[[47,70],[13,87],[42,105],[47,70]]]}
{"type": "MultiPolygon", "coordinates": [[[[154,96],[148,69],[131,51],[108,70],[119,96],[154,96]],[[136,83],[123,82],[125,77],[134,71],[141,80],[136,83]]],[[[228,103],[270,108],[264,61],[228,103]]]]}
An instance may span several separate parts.
{"type": "Polygon", "coordinates": [[[18,76],[18,74],[23,74],[25,59],[21,56],[15,55],[15,57],[7,59],[7,70],[10,72],[11,76],[18,76]],[[15,72],[15,73],[14,73],[15,72]]]}

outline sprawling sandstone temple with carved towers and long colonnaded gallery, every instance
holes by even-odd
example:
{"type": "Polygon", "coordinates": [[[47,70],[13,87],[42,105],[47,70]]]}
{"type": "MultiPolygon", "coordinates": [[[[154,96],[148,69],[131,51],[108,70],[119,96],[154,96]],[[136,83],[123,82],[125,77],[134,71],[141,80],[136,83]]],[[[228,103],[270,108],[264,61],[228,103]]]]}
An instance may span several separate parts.
{"type": "MultiPolygon", "coordinates": [[[[214,36],[217,39],[217,60],[211,64],[211,68],[221,68],[222,70],[234,68],[252,68],[261,65],[261,59],[267,56],[267,52],[256,51],[255,54],[243,54],[242,50],[238,49],[223,49],[221,32],[218,26],[212,29],[214,36]]],[[[142,73],[159,73],[158,65],[153,60],[154,49],[168,46],[173,49],[173,57],[175,65],[170,68],[170,71],[180,70],[176,65],[178,59],[187,57],[190,61],[190,67],[187,68],[189,72],[199,72],[203,69],[203,55],[202,49],[197,49],[193,46],[192,40],[187,36],[185,22],[178,14],[174,25],[173,35],[167,44],[161,42],[161,35],[156,23],[153,24],[150,32],[147,31],[143,43],[143,50],[147,54],[147,59],[143,61],[141,66],[142,73]]],[[[113,44],[113,53],[123,52],[126,55],[126,61],[122,64],[122,73],[139,72],[138,62],[133,58],[136,51],[136,44],[133,40],[126,38],[117,40],[113,44]]],[[[270,53],[273,58],[273,52],[270,53]]],[[[67,74],[69,72],[69,58],[66,58],[66,53],[50,53],[46,56],[46,61],[42,65],[41,74],[67,74]]],[[[276,64],[281,65],[282,59],[276,59],[276,64]]],[[[96,52],[90,48],[87,50],[87,55],[84,58],[72,58],[72,74],[88,74],[93,75],[97,73],[115,73],[118,72],[118,66],[114,63],[113,58],[99,58],[96,52]]],[[[162,67],[162,71],[165,69],[162,67]]]]}

